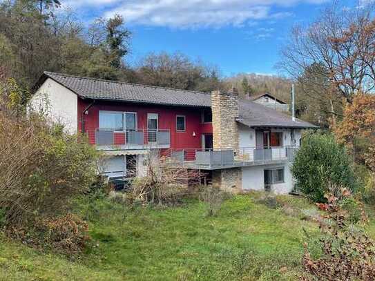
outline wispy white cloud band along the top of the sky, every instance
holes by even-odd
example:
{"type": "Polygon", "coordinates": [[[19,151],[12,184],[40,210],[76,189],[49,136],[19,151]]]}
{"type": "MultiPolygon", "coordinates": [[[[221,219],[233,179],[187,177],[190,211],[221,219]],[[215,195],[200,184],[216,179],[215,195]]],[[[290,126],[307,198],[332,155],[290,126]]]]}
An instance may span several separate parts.
{"type": "Polygon", "coordinates": [[[289,17],[289,12],[272,12],[273,6],[298,3],[319,4],[327,0],[69,0],[76,8],[108,6],[105,17],[122,14],[126,21],[145,26],[198,28],[242,26],[248,21],[289,17]]]}

